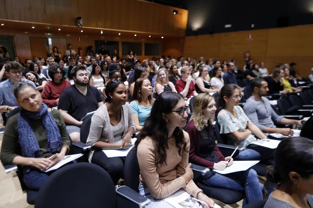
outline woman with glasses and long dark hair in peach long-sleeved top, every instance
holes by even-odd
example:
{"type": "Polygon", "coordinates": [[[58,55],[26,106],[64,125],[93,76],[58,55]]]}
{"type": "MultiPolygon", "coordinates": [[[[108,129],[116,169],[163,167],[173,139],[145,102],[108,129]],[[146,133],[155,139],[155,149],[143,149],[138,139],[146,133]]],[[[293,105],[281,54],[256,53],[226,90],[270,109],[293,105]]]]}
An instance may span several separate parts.
{"type": "Polygon", "coordinates": [[[187,110],[181,94],[166,91],[155,100],[135,147],[140,167],[140,194],[151,200],[147,207],[172,207],[163,198],[183,189],[213,207],[214,202],[192,181],[188,164],[187,110]]]}

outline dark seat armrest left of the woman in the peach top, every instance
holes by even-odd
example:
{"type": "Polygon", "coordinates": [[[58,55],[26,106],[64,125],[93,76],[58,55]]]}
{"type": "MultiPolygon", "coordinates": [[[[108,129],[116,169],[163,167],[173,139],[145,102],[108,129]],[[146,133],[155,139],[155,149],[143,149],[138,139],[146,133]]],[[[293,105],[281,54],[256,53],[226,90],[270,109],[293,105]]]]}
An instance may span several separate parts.
{"type": "Polygon", "coordinates": [[[150,199],[146,198],[145,196],[141,196],[138,192],[132,190],[128,186],[117,186],[115,190],[118,195],[121,195],[127,200],[134,202],[139,207],[145,207],[151,202],[150,199]]]}

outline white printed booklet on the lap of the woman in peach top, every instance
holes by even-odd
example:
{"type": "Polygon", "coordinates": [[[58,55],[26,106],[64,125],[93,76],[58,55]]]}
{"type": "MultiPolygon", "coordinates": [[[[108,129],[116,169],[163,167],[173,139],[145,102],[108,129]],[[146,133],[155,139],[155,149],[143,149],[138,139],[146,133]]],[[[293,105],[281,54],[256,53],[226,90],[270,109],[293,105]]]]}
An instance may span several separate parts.
{"type": "MultiPolygon", "coordinates": [[[[193,198],[190,196],[186,191],[183,189],[179,189],[175,193],[173,193],[171,196],[166,197],[163,199],[170,205],[172,205],[175,208],[187,208],[187,207],[202,207],[201,204],[205,205],[205,202],[202,202],[198,199],[193,198]]],[[[217,204],[214,204],[214,208],[221,208],[217,204]]]]}

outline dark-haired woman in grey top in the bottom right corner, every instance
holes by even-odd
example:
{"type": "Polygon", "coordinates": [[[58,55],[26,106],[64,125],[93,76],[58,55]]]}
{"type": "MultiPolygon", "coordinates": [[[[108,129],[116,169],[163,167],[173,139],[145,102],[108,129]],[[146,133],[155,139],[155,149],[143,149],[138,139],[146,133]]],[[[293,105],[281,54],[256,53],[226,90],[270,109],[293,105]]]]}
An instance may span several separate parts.
{"type": "Polygon", "coordinates": [[[278,184],[264,208],[313,207],[313,141],[304,137],[285,138],[275,152],[275,165],[266,177],[278,184]]]}

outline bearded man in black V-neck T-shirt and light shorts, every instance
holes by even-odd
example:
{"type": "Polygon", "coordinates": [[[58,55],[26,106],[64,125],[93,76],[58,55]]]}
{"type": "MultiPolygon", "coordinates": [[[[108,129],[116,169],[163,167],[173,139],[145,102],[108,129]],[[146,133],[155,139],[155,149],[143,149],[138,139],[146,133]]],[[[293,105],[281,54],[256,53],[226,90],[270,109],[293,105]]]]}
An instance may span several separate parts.
{"type": "Polygon", "coordinates": [[[103,105],[100,91],[89,85],[88,73],[84,66],[77,66],[71,71],[75,82],[63,91],[58,109],[66,123],[66,130],[72,142],[80,142],[80,121],[87,113],[103,105]]]}

